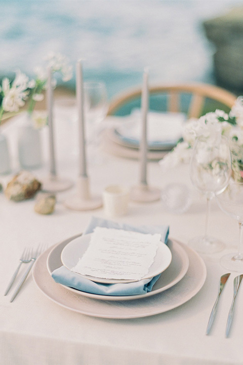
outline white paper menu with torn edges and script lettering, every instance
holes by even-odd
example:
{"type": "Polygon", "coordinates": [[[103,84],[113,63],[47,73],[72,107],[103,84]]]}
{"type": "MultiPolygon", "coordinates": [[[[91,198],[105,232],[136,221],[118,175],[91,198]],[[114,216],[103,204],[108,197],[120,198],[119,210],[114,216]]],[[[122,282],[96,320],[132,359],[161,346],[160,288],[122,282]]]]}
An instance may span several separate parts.
{"type": "Polygon", "coordinates": [[[154,261],[160,238],[157,233],[96,227],[72,271],[103,279],[140,280],[154,261]]]}

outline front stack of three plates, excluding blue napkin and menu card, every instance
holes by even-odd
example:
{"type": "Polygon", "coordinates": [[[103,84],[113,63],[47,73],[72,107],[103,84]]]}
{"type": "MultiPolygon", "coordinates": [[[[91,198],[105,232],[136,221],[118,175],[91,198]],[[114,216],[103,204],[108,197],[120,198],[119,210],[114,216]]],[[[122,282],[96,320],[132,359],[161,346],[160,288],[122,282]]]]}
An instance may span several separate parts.
{"type": "MultiPolygon", "coordinates": [[[[105,318],[136,318],[163,313],[190,300],[206,279],[206,267],[199,255],[186,245],[169,239],[168,245],[160,245],[146,276],[161,274],[146,294],[97,295],[56,283],[51,273],[63,265],[70,270],[82,257],[89,242],[90,235],[67,239],[44,252],[33,268],[33,278],[39,289],[55,303],[78,313],[105,318]]],[[[105,282],[94,277],[88,279],[105,282]]],[[[116,282],[106,280],[105,283],[116,282]]]]}

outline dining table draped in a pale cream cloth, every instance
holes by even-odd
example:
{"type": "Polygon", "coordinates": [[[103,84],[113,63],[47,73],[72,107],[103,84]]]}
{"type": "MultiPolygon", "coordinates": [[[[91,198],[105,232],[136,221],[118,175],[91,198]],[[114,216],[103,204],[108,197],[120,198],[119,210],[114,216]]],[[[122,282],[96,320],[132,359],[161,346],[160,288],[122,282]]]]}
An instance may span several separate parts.
{"type": "MultiPolygon", "coordinates": [[[[4,194],[8,181],[20,167],[16,147],[18,120],[15,117],[3,125],[3,133],[9,140],[12,170],[0,176],[3,185],[0,193],[0,363],[243,364],[243,287],[239,289],[235,303],[230,335],[225,336],[233,299],[233,280],[241,273],[231,272],[212,330],[206,335],[220,277],[227,273],[220,265],[220,257],[237,250],[237,222],[222,212],[213,199],[209,233],[222,240],[225,248],[210,255],[193,251],[188,241],[203,234],[205,229],[205,196],[193,187],[188,164],[165,170],[156,160],[147,162],[147,180],[149,186],[161,189],[161,199],[147,203],[130,200],[127,214],[116,217],[106,216],[103,207],[94,210],[67,208],[66,199],[76,191],[79,157],[77,122],[75,118],[70,120],[66,115],[62,116],[63,119],[55,119],[54,123],[57,174],[72,180],[73,186],[55,194],[55,210],[47,215],[34,211],[34,198],[15,202],[4,194]],[[191,201],[186,211],[178,213],[168,209],[163,192],[169,184],[185,184],[188,188],[191,201]],[[129,301],[77,296],[54,282],[47,270],[48,254],[54,247],[81,235],[92,217],[136,227],[168,225],[169,240],[177,242],[189,255],[190,270],[186,280],[182,278],[157,295],[129,301]],[[8,295],[4,296],[4,291],[21,253],[24,247],[38,244],[45,244],[45,251],[11,303],[17,281],[8,295]],[[62,293],[63,298],[57,293],[62,293]]],[[[110,126],[112,117],[104,122],[110,126]]],[[[49,175],[48,127],[41,133],[45,150],[43,165],[31,171],[39,181],[49,175]]],[[[99,162],[89,159],[89,150],[87,153],[91,195],[102,197],[107,186],[132,188],[139,183],[139,159],[112,155],[102,149],[102,145],[97,151],[101,158],[99,162]]],[[[25,269],[23,264],[17,279],[25,269]]]]}

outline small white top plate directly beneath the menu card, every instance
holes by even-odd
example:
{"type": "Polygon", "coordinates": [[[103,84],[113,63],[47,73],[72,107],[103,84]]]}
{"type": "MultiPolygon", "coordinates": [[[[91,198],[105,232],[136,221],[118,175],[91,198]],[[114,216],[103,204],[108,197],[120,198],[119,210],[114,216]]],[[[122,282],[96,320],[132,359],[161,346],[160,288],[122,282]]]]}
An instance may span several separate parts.
{"type": "MultiPolygon", "coordinates": [[[[91,236],[92,233],[74,238],[63,248],[61,253],[61,261],[67,269],[72,270],[72,268],[77,265],[79,259],[83,257],[85,251],[89,247],[91,236]]],[[[165,271],[170,265],[171,260],[172,254],[170,248],[165,243],[159,242],[154,262],[150,266],[148,273],[143,276],[142,279],[152,278],[165,271]]],[[[90,275],[79,275],[86,277],[87,279],[90,279],[92,281],[104,284],[128,283],[137,281],[123,279],[104,279],[90,275]]]]}

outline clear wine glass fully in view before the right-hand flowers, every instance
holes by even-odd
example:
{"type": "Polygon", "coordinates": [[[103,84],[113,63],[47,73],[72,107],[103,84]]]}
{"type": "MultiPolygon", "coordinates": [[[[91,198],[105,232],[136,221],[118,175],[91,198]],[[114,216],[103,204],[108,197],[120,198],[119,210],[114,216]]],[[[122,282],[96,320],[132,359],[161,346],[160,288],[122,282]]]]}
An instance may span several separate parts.
{"type": "Polygon", "coordinates": [[[207,210],[204,236],[191,239],[189,245],[201,253],[221,251],[224,243],[208,236],[208,221],[211,199],[222,192],[231,176],[231,154],[227,138],[224,136],[198,137],[195,141],[191,162],[192,184],[206,195],[207,210]]]}

